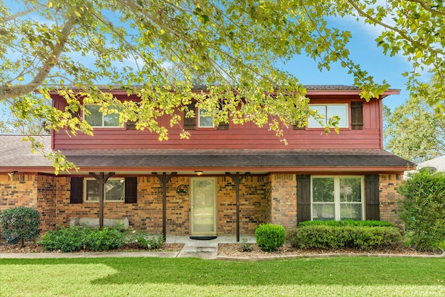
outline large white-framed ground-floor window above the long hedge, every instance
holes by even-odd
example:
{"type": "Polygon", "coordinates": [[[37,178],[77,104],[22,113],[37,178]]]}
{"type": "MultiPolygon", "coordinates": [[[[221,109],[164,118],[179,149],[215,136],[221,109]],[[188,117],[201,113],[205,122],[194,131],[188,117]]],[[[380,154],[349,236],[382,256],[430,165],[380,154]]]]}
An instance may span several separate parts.
{"type": "Polygon", "coordinates": [[[363,220],[363,177],[312,177],[312,220],[363,220]]]}

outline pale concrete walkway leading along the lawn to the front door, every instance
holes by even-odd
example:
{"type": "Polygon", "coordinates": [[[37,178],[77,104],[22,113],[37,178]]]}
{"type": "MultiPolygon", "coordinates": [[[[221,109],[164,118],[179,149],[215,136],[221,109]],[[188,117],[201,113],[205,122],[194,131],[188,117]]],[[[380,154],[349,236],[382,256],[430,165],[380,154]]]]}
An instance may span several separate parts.
{"type": "MultiPolygon", "coordinates": [[[[254,243],[252,236],[243,239],[254,243]]],[[[99,258],[99,257],[197,257],[201,259],[216,259],[218,243],[236,243],[234,236],[220,236],[211,240],[195,240],[189,236],[167,236],[165,243],[184,243],[179,252],[29,252],[1,253],[0,259],[45,259],[45,258],[99,258]]],[[[241,243],[241,241],[240,241],[241,243]]]]}

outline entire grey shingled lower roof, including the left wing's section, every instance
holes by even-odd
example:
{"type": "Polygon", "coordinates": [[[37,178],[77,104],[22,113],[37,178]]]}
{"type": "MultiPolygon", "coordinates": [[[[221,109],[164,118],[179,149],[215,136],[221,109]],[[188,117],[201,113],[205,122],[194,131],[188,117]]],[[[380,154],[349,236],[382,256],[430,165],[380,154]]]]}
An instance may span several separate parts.
{"type": "MultiPolygon", "coordinates": [[[[52,162],[32,154],[23,136],[1,136],[0,171],[54,172],[52,162]]],[[[50,136],[41,136],[50,147],[50,136]]],[[[116,171],[122,174],[152,171],[194,173],[251,171],[403,172],[414,163],[385,150],[63,150],[80,172],[116,171]]]]}

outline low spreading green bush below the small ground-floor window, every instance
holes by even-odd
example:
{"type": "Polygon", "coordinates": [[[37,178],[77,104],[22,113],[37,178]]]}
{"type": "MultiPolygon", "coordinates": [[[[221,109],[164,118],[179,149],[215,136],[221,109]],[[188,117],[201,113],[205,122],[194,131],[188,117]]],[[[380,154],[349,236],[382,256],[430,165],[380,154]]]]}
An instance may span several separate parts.
{"type": "Polygon", "coordinates": [[[78,252],[79,250],[103,251],[121,248],[125,243],[125,234],[116,228],[61,227],[49,231],[40,241],[44,250],[60,252],[78,252]]]}

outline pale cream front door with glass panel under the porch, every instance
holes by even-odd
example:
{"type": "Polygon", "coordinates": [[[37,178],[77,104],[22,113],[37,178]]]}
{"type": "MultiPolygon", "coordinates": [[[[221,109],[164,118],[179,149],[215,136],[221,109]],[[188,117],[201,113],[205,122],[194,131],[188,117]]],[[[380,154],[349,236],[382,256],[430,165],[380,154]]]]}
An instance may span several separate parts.
{"type": "Polygon", "coordinates": [[[191,234],[216,235],[216,177],[191,177],[191,234]]]}

